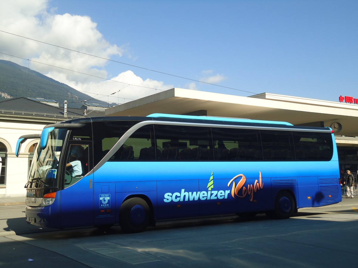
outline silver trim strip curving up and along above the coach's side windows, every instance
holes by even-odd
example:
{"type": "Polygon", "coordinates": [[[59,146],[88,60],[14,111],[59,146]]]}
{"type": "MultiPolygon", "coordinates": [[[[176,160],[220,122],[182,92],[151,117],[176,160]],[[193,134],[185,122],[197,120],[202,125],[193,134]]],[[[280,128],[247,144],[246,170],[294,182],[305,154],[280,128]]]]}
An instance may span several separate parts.
{"type": "Polygon", "coordinates": [[[172,122],[172,121],[142,121],[134,126],[132,126],[127,132],[118,140],[118,142],[112,147],[112,149],[102,158],[102,160],[94,167],[91,171],[89,171],[87,175],[93,174],[93,172],[97,171],[103,164],[105,164],[116,152],[117,150],[124,144],[127,138],[130,137],[137,129],[141,128],[145,125],[175,125],[175,126],[202,126],[202,127],[211,127],[211,128],[237,128],[237,129],[255,129],[255,130],[280,130],[280,131],[298,131],[298,132],[319,132],[319,133],[331,133],[332,130],[329,129],[295,129],[295,128],[280,128],[280,127],[270,127],[270,126],[242,126],[242,125],[218,125],[218,124],[204,124],[204,123],[188,123],[188,122],[172,122]]]}

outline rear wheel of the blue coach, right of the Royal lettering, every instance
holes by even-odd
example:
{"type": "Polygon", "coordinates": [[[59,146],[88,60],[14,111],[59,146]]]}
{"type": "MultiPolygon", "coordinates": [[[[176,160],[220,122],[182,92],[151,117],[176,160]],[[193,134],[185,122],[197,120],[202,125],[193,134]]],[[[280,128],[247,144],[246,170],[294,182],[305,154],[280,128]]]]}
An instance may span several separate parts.
{"type": "Polygon", "coordinates": [[[288,219],[294,214],[294,212],[295,200],[292,195],[287,191],[279,192],[275,199],[275,209],[273,213],[275,218],[288,219]]]}

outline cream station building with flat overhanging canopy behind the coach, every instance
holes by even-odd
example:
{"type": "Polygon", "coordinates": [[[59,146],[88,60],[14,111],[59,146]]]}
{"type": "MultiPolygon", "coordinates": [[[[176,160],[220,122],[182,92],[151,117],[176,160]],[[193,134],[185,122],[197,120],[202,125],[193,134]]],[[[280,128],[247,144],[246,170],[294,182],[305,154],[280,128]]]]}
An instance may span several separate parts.
{"type": "Polygon", "coordinates": [[[38,140],[27,140],[15,157],[16,142],[41,133],[47,124],[83,116],[146,116],[153,113],[221,116],[286,121],[334,129],[339,166],[357,173],[358,99],[337,96],[325,101],[262,93],[249,97],[173,88],[111,108],[87,104],[82,109],[59,107],[55,101],[16,98],[0,102],[0,197],[25,195],[29,165],[38,140]]]}

